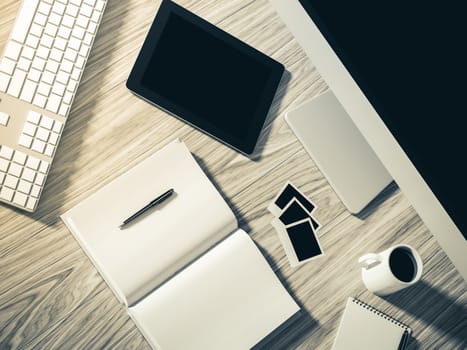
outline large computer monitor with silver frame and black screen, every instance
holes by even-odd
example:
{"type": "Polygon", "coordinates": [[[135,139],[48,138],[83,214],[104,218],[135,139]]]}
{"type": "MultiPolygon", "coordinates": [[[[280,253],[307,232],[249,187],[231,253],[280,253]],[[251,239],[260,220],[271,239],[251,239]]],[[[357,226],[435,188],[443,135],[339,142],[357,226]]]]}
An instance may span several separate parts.
{"type": "Polygon", "coordinates": [[[467,280],[463,11],[418,1],[270,1],[467,280]]]}

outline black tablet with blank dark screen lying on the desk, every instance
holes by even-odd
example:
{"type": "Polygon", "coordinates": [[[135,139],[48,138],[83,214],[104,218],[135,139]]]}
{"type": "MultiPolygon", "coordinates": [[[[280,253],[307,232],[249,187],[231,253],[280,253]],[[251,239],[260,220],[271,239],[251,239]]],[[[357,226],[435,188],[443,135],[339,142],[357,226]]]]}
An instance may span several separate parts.
{"type": "Polygon", "coordinates": [[[251,154],[283,72],[272,58],[164,0],[127,87],[251,154]]]}

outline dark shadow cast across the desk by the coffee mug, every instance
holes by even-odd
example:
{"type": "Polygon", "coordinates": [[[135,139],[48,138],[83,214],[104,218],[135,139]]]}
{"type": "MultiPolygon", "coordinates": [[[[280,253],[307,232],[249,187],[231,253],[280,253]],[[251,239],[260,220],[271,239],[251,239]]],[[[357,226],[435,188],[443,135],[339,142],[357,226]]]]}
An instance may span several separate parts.
{"type": "MultiPolygon", "coordinates": [[[[449,334],[460,344],[467,345],[467,306],[462,300],[450,298],[445,293],[420,281],[416,285],[384,297],[387,302],[411,314],[427,326],[449,334]],[[448,307],[446,307],[449,305],[448,307]]],[[[416,337],[417,334],[414,334],[416,337]]],[[[412,339],[409,348],[418,349],[412,339]]]]}

